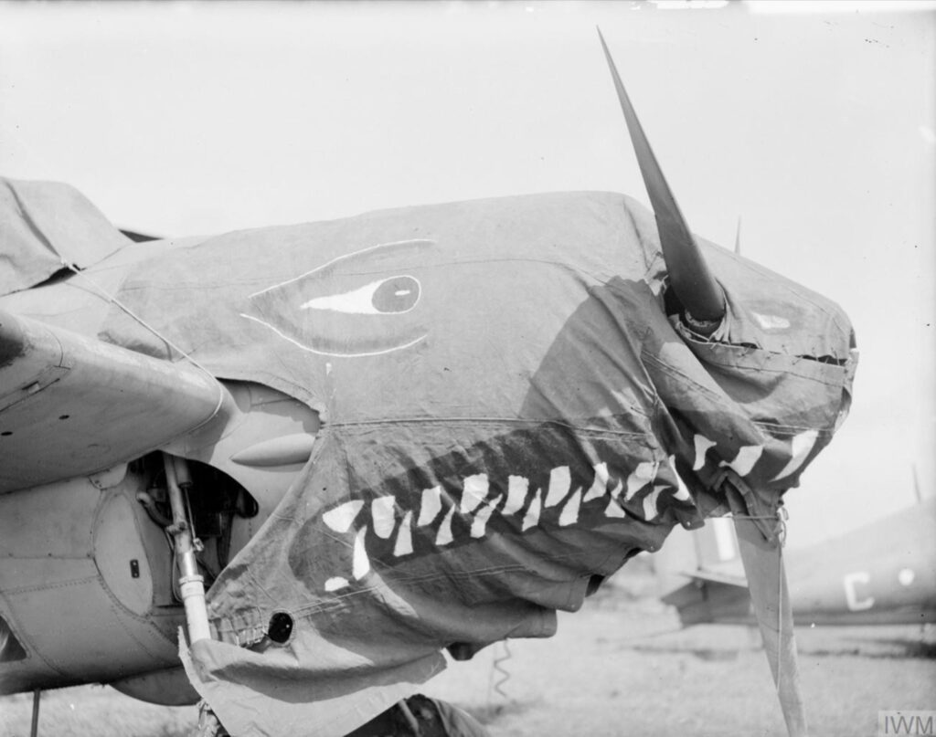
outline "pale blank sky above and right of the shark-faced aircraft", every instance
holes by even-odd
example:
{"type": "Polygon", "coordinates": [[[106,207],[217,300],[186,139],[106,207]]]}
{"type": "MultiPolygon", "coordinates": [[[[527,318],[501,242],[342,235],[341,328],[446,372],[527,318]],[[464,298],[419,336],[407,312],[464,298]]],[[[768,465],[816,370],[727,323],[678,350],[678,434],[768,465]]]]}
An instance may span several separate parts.
{"type": "MultiPolygon", "coordinates": [[[[906,7],[893,3],[888,8],[906,7]]],[[[647,201],[600,24],[690,225],[856,325],[791,546],[936,494],[936,10],[0,5],[0,172],[163,235],[492,195],[647,201]],[[782,12],[778,12],[782,11],[782,12]]]]}

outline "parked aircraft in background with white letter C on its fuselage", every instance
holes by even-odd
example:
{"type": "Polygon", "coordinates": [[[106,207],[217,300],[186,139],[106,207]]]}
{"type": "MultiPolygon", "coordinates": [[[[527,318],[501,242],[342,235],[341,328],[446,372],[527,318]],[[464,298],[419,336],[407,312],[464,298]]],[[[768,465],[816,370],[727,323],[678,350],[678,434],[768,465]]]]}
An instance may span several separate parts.
{"type": "MultiPolygon", "coordinates": [[[[679,610],[683,625],[754,621],[734,530],[725,522],[711,520],[702,530],[674,534],[654,556],[669,588],[663,600],[679,610]],[[680,557],[683,563],[697,560],[697,568],[675,571],[680,557]]],[[[841,537],[791,551],[784,562],[797,625],[936,622],[934,529],[936,499],[929,498],[841,537]]]]}

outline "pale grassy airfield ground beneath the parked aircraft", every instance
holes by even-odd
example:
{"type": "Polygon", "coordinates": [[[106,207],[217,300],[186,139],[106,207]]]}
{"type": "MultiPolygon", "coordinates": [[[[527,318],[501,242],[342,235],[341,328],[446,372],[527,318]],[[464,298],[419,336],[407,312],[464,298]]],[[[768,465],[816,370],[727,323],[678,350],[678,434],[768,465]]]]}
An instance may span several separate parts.
{"type": "MultiPolygon", "coordinates": [[[[811,733],[877,734],[877,713],[936,709],[936,633],[918,627],[801,628],[811,733]]],[[[492,737],[782,737],[759,636],[679,629],[671,610],[611,586],[549,640],[515,640],[452,663],[424,691],[484,721],[492,737]],[[508,655],[509,652],[509,655],[508,655]]],[[[27,737],[31,697],[0,699],[0,735],[27,737]]],[[[45,694],[40,734],[183,737],[194,707],[157,707],[108,687],[45,694]]]]}

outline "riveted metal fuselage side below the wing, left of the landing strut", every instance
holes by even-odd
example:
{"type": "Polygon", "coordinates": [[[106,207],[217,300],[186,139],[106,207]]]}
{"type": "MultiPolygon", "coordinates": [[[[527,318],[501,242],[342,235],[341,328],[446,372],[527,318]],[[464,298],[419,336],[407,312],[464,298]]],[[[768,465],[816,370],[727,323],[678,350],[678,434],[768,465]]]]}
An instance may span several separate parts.
{"type": "Polygon", "coordinates": [[[182,611],[161,597],[165,533],[135,495],[147,479],[125,465],[0,495],[0,619],[22,643],[2,662],[0,694],[158,673],[140,698],[193,703],[175,658],[182,611]]]}

